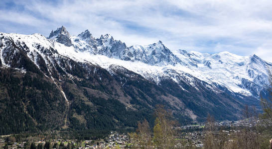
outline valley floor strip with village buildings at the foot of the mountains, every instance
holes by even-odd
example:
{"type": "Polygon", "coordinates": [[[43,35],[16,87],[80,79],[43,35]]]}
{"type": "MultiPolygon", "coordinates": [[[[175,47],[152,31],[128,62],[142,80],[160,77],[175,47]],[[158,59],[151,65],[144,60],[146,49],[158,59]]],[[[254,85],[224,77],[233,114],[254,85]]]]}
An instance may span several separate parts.
{"type": "MultiPolygon", "coordinates": [[[[220,128],[220,130],[215,131],[215,134],[223,134],[224,136],[236,136],[240,133],[240,129],[248,126],[246,121],[222,121],[215,122],[214,127],[220,128]]],[[[188,149],[204,148],[205,137],[209,132],[207,131],[207,124],[195,124],[195,125],[185,125],[174,128],[176,130],[176,136],[174,137],[175,147],[177,149],[188,149]]],[[[35,146],[42,145],[44,148],[47,142],[50,142],[50,149],[138,149],[140,148],[137,139],[133,139],[133,133],[119,133],[116,131],[111,131],[108,136],[103,139],[96,140],[76,140],[76,139],[64,139],[58,137],[57,139],[49,138],[48,136],[43,136],[45,138],[39,138],[37,136],[26,135],[27,138],[19,138],[20,141],[15,140],[16,135],[5,135],[0,136],[0,148],[3,149],[31,149],[31,142],[35,146]],[[12,137],[14,136],[14,137],[12,137]],[[32,141],[31,141],[32,140],[32,141]],[[36,140],[36,141],[33,141],[36,140]],[[7,148],[5,147],[7,146],[7,148]]],[[[56,137],[54,137],[56,138],[56,137]]],[[[227,140],[227,142],[232,142],[232,140],[227,140]]],[[[152,146],[150,146],[152,148],[152,146]]],[[[36,148],[37,149],[37,148],[36,148]]],[[[45,149],[45,148],[44,148],[45,149]]]]}

